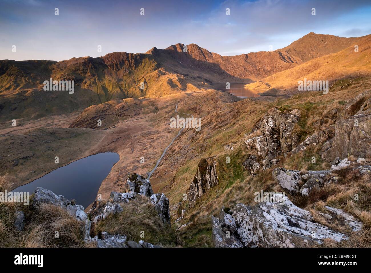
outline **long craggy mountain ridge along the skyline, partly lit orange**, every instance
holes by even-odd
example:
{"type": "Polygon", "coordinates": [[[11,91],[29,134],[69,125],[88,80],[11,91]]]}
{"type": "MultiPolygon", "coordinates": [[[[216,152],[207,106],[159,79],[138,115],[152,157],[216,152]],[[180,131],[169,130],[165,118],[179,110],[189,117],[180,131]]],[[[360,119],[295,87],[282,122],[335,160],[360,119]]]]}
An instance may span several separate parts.
{"type": "Polygon", "coordinates": [[[142,53],[114,52],[66,61],[0,61],[1,120],[34,119],[82,111],[110,100],[212,89],[213,83],[249,83],[342,50],[360,38],[309,33],[286,48],[221,56],[181,43],[142,53]],[[44,91],[45,80],[73,80],[74,94],[44,91]],[[144,89],[142,84],[144,83],[144,89]]]}

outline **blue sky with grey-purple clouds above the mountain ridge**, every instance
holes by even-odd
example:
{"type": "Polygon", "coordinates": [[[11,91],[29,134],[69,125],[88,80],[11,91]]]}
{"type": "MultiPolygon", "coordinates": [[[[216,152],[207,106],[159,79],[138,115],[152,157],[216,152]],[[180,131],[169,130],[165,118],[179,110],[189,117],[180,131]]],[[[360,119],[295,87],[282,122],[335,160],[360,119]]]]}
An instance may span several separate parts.
{"type": "Polygon", "coordinates": [[[239,55],[283,48],[309,32],[368,35],[370,21],[371,0],[0,0],[0,59],[62,61],[176,43],[239,55]]]}

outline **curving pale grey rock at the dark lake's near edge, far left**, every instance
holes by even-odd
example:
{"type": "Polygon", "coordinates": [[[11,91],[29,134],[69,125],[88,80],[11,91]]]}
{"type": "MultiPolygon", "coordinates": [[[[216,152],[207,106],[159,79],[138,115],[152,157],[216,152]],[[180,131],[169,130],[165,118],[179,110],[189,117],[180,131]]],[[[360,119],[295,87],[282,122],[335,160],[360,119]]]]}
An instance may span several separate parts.
{"type": "Polygon", "coordinates": [[[57,196],[54,192],[48,189],[37,188],[35,191],[35,197],[33,198],[33,207],[37,208],[41,204],[50,204],[66,209],[71,216],[84,223],[85,240],[89,237],[91,222],[88,215],[84,212],[83,206],[73,205],[71,201],[63,195],[57,196]]]}

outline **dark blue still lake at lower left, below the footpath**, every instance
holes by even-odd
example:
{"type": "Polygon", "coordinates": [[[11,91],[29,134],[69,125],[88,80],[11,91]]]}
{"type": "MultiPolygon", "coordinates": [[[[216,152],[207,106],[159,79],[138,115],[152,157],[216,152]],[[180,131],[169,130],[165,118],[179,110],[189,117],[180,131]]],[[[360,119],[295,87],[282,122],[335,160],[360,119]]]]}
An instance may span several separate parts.
{"type": "Polygon", "coordinates": [[[30,192],[37,187],[50,189],[56,195],[63,195],[77,205],[88,207],[94,202],[102,181],[120,159],[117,153],[98,153],[47,173],[26,185],[13,189],[13,192],[30,192]]]}

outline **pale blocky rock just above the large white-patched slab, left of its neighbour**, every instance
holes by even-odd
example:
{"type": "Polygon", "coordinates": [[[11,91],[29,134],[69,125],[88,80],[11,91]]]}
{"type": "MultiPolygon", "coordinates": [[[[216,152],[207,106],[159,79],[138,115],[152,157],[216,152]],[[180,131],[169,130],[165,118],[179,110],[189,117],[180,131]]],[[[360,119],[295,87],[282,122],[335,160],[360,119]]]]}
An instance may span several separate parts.
{"type": "Polygon", "coordinates": [[[299,191],[298,184],[301,182],[299,171],[276,168],[272,175],[285,192],[296,193],[299,191]]]}

